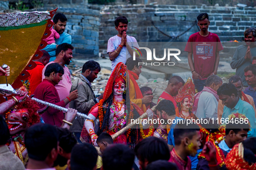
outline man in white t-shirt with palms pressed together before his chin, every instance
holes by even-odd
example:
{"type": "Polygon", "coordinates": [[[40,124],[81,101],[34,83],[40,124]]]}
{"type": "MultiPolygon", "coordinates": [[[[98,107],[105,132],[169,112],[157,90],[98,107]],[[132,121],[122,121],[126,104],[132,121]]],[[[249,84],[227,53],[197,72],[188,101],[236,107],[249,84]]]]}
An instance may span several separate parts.
{"type": "MultiPolygon", "coordinates": [[[[107,54],[112,61],[111,72],[116,67],[117,63],[126,63],[126,59],[133,56],[133,48],[139,48],[139,45],[134,37],[126,35],[128,28],[128,19],[125,16],[120,16],[115,20],[117,35],[111,37],[107,42],[107,54]],[[126,43],[126,42],[129,42],[126,43]],[[126,53],[126,49],[129,53],[126,53]]],[[[139,57],[139,54],[135,54],[139,57]]]]}

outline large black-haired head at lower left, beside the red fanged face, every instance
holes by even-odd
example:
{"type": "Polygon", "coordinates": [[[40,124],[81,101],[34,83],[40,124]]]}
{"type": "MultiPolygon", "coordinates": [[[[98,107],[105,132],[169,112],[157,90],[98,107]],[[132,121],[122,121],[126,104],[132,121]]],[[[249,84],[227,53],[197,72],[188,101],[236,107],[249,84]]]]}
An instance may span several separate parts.
{"type": "Polygon", "coordinates": [[[57,149],[58,133],[55,126],[39,123],[27,129],[25,146],[29,158],[36,161],[45,161],[53,148],[57,149]]]}

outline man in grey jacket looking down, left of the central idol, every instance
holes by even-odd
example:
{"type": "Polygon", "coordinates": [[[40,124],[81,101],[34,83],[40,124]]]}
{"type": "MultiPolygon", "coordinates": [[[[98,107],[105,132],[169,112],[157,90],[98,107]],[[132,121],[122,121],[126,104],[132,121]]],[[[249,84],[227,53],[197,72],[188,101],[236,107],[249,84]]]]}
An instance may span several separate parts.
{"type": "MultiPolygon", "coordinates": [[[[89,60],[84,63],[82,73],[73,82],[70,92],[78,90],[78,98],[71,101],[69,106],[77,109],[81,113],[88,114],[95,104],[99,103],[102,98],[96,98],[91,88],[91,82],[97,78],[97,74],[100,72],[100,64],[94,60],[89,60]]],[[[74,132],[78,142],[80,141],[81,131],[84,125],[84,118],[77,117],[73,121],[73,125],[70,127],[71,132],[74,132]]]]}

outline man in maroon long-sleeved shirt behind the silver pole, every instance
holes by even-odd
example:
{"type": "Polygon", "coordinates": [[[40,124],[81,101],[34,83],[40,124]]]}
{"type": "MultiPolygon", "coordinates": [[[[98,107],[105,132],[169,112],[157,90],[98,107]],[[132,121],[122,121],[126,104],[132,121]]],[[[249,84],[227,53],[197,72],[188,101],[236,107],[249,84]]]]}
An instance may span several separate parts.
{"type": "MultiPolygon", "coordinates": [[[[78,90],[72,91],[67,98],[60,101],[58,91],[54,87],[62,80],[64,69],[58,63],[49,64],[45,69],[45,79],[37,86],[34,94],[35,98],[42,101],[47,101],[61,107],[65,107],[70,101],[78,97],[78,90]]],[[[40,105],[40,107],[44,107],[40,105]]],[[[64,113],[60,110],[49,107],[45,113],[42,113],[42,118],[45,123],[60,127],[64,119],[64,113]]]]}

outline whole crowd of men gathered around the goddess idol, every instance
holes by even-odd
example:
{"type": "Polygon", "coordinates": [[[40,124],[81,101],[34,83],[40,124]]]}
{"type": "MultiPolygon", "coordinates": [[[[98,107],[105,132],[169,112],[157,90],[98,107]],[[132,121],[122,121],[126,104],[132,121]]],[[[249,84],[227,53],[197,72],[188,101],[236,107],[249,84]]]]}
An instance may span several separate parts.
{"type": "MultiPolygon", "coordinates": [[[[0,116],[0,169],[255,169],[256,28],[248,28],[244,32],[246,44],[237,47],[230,63],[233,69],[237,69],[236,75],[229,79],[229,83],[223,83],[217,76],[219,51],[223,50],[220,39],[208,31],[210,21],[207,13],[198,15],[197,19],[200,31],[189,37],[185,48],[188,52],[188,64],[193,75],[194,87],[198,90],[198,93],[193,94],[193,100],[188,103],[185,99],[181,101],[181,105],[184,104],[183,109],[188,105],[190,110],[185,110],[188,111],[188,115],[177,116],[181,114],[177,114],[180,105],[176,96],[178,91],[185,87],[185,81],[179,76],[173,76],[159,96],[156,111],[152,116],[164,120],[163,124],[167,127],[160,129],[161,132],[156,130],[158,135],[154,132],[152,136],[141,139],[132,148],[114,143],[106,130],[97,134],[97,151],[90,141],[81,140],[86,119],[76,116],[76,113],[78,111],[88,115],[104,97],[102,94],[96,98],[91,85],[101,70],[100,64],[94,60],[87,61],[78,78],[71,82],[71,73],[67,65],[73,58],[74,47],[71,45],[71,35],[64,32],[67,22],[65,15],[56,14],[52,32],[59,36],[54,42],[49,41],[51,43],[42,50],[42,57],[35,60],[36,68],[29,70],[30,92],[34,94],[34,98],[60,107],[69,107],[68,112],[52,107],[45,108],[39,104],[39,109],[45,110],[40,115],[40,123],[39,118],[36,118],[37,123],[25,128],[25,135],[21,134],[20,142],[19,134],[11,134],[14,137],[10,138],[10,132],[19,127],[12,125],[15,123],[9,120],[15,120],[13,115],[20,114],[19,118],[26,121],[30,115],[27,113],[29,109],[22,111],[15,108],[11,113],[7,111],[24,102],[28,93],[19,91],[16,96],[6,101],[5,105],[0,105],[0,115],[7,115],[5,118],[0,116]],[[192,114],[194,116],[191,119],[211,121],[188,123],[186,119],[192,114]],[[232,118],[239,121],[230,123],[232,118]],[[220,128],[220,124],[226,126],[220,128]],[[9,141],[18,141],[19,147],[26,149],[28,156],[25,156],[23,161],[13,154],[9,141]],[[241,148],[243,154],[237,154],[241,148]]],[[[136,82],[142,72],[142,66],[138,65],[141,59],[136,56],[134,60],[131,56],[134,51],[132,47],[139,46],[134,37],[126,35],[128,20],[125,16],[118,17],[114,24],[117,35],[111,37],[107,44],[107,53],[112,61],[111,71],[113,72],[120,62],[126,64],[130,82],[126,91],[129,91],[130,101],[144,113],[156,104],[152,102],[152,89],[146,86],[139,87],[136,82]],[[126,54],[126,50],[129,53],[126,54]]],[[[9,67],[6,70],[0,68],[0,76],[9,74],[9,67]]],[[[16,121],[18,120],[17,118],[16,121]]],[[[99,125],[95,121],[94,129],[97,129],[96,126],[99,125]]],[[[154,128],[157,129],[158,126],[160,124],[154,128]]],[[[17,153],[17,148],[15,149],[14,152],[17,153]]]]}

